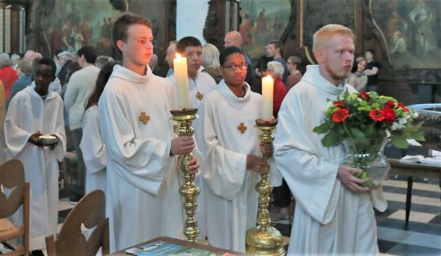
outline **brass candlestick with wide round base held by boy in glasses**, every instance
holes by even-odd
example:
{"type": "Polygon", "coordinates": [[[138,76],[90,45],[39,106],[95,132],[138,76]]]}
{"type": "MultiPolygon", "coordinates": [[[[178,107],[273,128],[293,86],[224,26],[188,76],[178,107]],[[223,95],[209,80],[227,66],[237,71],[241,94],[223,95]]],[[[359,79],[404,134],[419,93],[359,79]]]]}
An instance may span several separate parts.
{"type": "MultiPolygon", "coordinates": [[[[262,130],[260,142],[271,144],[274,141],[272,130],[276,129],[277,119],[271,121],[256,120],[258,129],[262,130]]],[[[269,156],[263,156],[269,160],[269,156]]],[[[250,228],[247,231],[247,253],[253,255],[285,255],[285,249],[282,246],[282,234],[271,226],[269,217],[269,195],[273,191],[273,186],[268,182],[269,167],[260,173],[260,181],[256,184],[256,191],[259,194],[259,209],[257,215],[258,226],[250,228]]]]}

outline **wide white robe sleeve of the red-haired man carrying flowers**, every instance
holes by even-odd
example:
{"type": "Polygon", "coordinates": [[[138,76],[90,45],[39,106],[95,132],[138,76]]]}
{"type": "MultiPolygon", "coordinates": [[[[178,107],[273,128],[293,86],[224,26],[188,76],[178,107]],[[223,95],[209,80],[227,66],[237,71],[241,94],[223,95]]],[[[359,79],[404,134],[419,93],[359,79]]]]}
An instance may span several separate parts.
{"type": "Polygon", "coordinates": [[[314,127],[309,127],[303,116],[314,114],[314,103],[305,103],[307,99],[302,103],[300,98],[290,92],[280,107],[274,160],[298,204],[324,224],[335,212],[336,205],[331,201],[336,197],[331,195],[334,187],[340,186],[336,182],[338,164],[317,155],[316,145],[311,141],[314,127]]]}

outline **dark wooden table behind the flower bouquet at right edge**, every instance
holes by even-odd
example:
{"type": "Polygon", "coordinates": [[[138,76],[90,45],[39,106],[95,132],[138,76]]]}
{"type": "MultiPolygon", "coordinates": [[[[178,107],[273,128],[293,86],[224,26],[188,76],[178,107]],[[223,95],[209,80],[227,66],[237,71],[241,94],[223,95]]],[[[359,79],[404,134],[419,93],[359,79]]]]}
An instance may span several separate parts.
{"type": "MultiPolygon", "coordinates": [[[[441,188],[441,166],[433,164],[407,163],[398,159],[387,158],[391,164],[391,175],[408,176],[406,195],[406,222],[404,228],[409,227],[409,214],[411,211],[413,176],[439,179],[441,188]]],[[[440,198],[441,199],[441,198],[440,198]]]]}

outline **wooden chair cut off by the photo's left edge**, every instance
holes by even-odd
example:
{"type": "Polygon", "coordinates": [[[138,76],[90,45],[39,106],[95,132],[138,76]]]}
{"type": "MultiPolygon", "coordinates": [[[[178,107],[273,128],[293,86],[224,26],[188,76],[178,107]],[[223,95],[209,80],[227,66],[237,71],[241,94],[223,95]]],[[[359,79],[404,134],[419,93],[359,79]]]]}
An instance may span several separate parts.
{"type": "Polygon", "coordinates": [[[25,171],[21,161],[17,159],[5,162],[0,166],[0,242],[6,243],[10,239],[23,237],[23,246],[12,248],[5,255],[29,255],[29,183],[25,182],[25,171]],[[9,196],[3,191],[13,189],[9,196]],[[14,214],[23,205],[23,225],[14,226],[7,217],[14,214]]]}

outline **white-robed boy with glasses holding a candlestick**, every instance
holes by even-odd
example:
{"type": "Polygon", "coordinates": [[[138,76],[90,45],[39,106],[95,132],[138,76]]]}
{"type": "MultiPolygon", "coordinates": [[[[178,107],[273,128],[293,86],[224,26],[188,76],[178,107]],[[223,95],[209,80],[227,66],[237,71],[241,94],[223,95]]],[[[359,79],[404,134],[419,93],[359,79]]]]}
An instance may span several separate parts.
{"type": "MultiPolygon", "coordinates": [[[[260,150],[272,155],[272,146],[259,147],[260,131],[254,124],[260,117],[262,96],[245,83],[245,54],[238,47],[226,47],[219,61],[225,79],[203,99],[198,109],[201,122],[196,126],[205,162],[207,236],[213,246],[245,253],[247,229],[256,225],[254,186],[267,166],[260,150]]],[[[269,102],[271,120],[272,98],[269,102]]]]}

